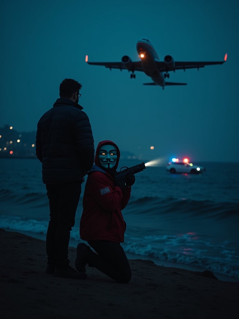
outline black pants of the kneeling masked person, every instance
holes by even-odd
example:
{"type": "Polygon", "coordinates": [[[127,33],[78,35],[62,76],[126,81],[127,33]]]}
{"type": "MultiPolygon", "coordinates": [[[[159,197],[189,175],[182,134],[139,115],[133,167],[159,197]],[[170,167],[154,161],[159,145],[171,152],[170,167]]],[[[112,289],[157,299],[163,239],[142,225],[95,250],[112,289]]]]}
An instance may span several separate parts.
{"type": "Polygon", "coordinates": [[[98,254],[91,254],[89,266],[97,268],[117,282],[130,281],[130,265],[120,243],[113,241],[88,241],[88,243],[98,254]]]}

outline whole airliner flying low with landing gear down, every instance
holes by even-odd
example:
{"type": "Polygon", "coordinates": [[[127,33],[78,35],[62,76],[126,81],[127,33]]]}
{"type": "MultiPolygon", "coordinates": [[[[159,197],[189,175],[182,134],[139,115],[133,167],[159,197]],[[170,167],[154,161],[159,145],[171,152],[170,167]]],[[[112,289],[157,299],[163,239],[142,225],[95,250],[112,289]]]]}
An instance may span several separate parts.
{"type": "Polygon", "coordinates": [[[185,71],[185,69],[193,68],[199,70],[205,65],[222,64],[227,60],[226,53],[224,61],[219,62],[176,62],[170,55],[165,56],[164,61],[159,61],[155,49],[147,38],[141,38],[136,44],[136,49],[141,61],[133,62],[129,56],[123,56],[121,62],[88,62],[88,56],[85,57],[85,61],[88,64],[104,65],[110,70],[120,69],[122,71],[126,69],[132,72],[130,78],[135,78],[134,71],[143,71],[153,80],[153,82],[143,83],[143,85],[160,85],[164,89],[166,85],[187,85],[187,83],[166,82],[165,79],[169,78],[169,71],[185,71]]]}

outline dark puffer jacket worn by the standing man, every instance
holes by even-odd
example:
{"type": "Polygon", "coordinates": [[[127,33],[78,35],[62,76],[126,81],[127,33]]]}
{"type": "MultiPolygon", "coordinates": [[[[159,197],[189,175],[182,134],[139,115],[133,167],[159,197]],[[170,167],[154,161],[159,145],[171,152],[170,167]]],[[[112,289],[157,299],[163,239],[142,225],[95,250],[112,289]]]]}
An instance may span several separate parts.
{"type": "Polygon", "coordinates": [[[83,181],[94,163],[94,139],[88,116],[68,99],[57,99],[37,124],[36,156],[43,183],[83,181]]]}

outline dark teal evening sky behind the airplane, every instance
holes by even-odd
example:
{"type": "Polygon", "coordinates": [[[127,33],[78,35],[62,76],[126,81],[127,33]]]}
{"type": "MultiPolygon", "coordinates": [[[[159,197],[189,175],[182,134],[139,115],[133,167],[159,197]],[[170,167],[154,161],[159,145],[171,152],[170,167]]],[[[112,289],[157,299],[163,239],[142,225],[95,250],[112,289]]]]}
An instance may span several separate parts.
{"type": "Polygon", "coordinates": [[[237,0],[4,0],[0,15],[0,127],[36,130],[61,81],[74,78],[96,145],[112,139],[144,160],[239,161],[237,0]],[[188,85],[164,90],[143,86],[151,79],[142,72],[130,79],[127,70],[85,63],[86,54],[89,61],[137,61],[141,37],[160,60],[221,61],[227,52],[228,61],[170,72],[170,81],[188,85]]]}

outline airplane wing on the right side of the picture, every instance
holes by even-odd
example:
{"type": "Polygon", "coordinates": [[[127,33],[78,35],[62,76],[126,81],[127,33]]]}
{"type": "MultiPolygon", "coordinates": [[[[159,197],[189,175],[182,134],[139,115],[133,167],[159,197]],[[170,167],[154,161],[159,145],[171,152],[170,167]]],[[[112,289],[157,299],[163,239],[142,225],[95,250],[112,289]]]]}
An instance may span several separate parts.
{"type": "Polygon", "coordinates": [[[175,62],[174,68],[168,67],[167,63],[156,61],[158,70],[160,72],[174,71],[174,70],[185,70],[185,69],[199,69],[204,68],[205,65],[222,64],[225,61],[212,61],[212,62],[175,62]]]}

